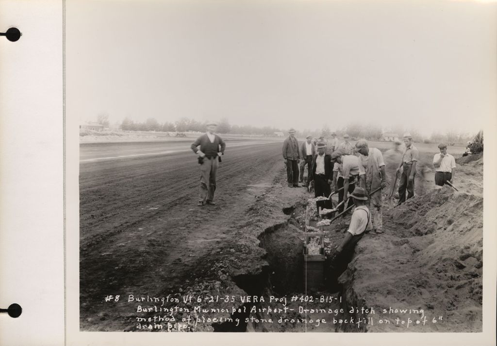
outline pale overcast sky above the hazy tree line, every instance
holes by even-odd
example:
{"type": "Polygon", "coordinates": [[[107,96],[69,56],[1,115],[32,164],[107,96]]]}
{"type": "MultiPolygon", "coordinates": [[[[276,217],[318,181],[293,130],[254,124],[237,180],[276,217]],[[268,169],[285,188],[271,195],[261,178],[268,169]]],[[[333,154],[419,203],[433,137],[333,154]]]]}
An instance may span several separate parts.
{"type": "Polygon", "coordinates": [[[402,124],[496,116],[497,3],[67,1],[67,115],[402,124]]]}

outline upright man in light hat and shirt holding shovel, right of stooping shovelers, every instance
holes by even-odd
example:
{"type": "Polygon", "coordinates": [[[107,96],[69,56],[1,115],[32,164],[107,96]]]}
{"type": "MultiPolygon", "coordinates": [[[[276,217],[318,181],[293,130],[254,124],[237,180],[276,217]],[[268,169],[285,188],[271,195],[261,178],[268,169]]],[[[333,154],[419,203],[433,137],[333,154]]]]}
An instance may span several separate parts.
{"type": "Polygon", "coordinates": [[[416,175],[416,164],[419,159],[419,151],[413,144],[413,137],[410,133],[404,134],[404,152],[402,162],[397,168],[397,173],[402,167],[402,174],[399,180],[399,206],[414,197],[414,177],[416,175]],[[406,199],[407,190],[407,199],[406,199]]]}

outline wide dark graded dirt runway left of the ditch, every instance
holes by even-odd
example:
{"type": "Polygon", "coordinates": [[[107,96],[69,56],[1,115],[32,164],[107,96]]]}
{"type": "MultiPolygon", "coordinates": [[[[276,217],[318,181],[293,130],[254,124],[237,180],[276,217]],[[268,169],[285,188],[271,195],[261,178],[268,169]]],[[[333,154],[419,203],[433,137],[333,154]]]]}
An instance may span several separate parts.
{"type": "Polygon", "coordinates": [[[281,143],[231,144],[218,171],[217,205],[202,208],[196,206],[199,165],[189,143],[169,154],[160,151],[177,143],[130,143],[121,145],[124,155],[144,155],[92,161],[84,160],[123,151],[112,153],[115,144],[109,143],[82,147],[82,328],[108,327],[91,322],[107,310],[107,294],[167,294],[201,277],[207,259],[215,259],[226,238],[233,240],[232,230],[249,221],[245,211],[256,201],[254,196],[271,186],[283,169],[281,143]],[[95,148],[91,154],[89,149],[95,148]],[[148,155],[154,150],[159,153],[148,155]]]}

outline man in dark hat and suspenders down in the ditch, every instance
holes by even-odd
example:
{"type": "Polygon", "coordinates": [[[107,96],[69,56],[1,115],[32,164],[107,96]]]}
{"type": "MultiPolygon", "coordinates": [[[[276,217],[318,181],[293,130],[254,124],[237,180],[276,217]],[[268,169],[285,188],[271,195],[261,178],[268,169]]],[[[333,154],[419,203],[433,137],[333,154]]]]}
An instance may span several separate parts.
{"type": "Polygon", "coordinates": [[[331,264],[328,271],[328,284],[331,291],[339,290],[338,277],[347,269],[349,262],[354,255],[355,245],[362,238],[364,232],[373,228],[371,223],[371,212],[366,207],[368,197],[362,187],[356,187],[350,194],[354,201],[354,212],[350,220],[350,225],[345,238],[340,245],[336,247],[336,252],[331,258],[331,264]]]}

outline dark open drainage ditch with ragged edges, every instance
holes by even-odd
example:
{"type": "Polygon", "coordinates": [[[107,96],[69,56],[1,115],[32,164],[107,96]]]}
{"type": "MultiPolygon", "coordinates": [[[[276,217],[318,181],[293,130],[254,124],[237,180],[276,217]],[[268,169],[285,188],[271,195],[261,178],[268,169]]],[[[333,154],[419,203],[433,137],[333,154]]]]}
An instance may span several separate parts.
{"type": "MultiPolygon", "coordinates": [[[[339,323],[356,316],[347,311],[350,304],[343,301],[343,286],[331,284],[337,277],[333,277],[329,256],[319,263],[304,260],[305,208],[303,203],[283,208],[288,219],[259,234],[259,247],[265,250],[263,259],[267,266],[257,275],[233,277],[249,296],[257,297],[257,301],[245,303],[239,307],[240,312],[231,315],[234,320],[248,322],[239,326],[226,322],[213,325],[214,331],[365,332],[363,326],[349,328],[348,324],[339,323]]],[[[343,234],[336,232],[327,238],[332,239],[334,246],[343,234]]],[[[331,247],[330,243],[327,245],[331,247]]]]}

